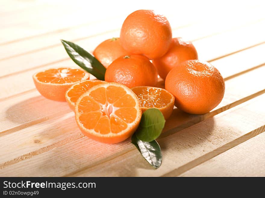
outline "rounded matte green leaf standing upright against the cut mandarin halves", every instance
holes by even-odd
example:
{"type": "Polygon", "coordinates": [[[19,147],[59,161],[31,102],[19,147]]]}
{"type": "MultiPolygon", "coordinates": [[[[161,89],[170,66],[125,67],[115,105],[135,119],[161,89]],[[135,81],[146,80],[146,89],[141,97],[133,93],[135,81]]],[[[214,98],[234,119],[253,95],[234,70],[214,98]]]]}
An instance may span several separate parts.
{"type": "Polygon", "coordinates": [[[151,142],[160,136],[165,118],[157,108],[150,108],[142,114],[141,122],[136,130],[136,136],[144,142],[151,142]]]}

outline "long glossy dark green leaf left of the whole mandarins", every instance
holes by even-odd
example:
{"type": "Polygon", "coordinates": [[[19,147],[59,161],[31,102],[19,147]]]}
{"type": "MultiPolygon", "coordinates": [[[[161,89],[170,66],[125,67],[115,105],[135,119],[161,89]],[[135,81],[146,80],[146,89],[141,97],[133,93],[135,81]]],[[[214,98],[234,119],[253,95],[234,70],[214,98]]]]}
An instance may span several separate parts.
{"type": "Polygon", "coordinates": [[[104,80],[106,68],[94,56],[73,42],[61,40],[67,54],[81,68],[99,80],[104,80]]]}

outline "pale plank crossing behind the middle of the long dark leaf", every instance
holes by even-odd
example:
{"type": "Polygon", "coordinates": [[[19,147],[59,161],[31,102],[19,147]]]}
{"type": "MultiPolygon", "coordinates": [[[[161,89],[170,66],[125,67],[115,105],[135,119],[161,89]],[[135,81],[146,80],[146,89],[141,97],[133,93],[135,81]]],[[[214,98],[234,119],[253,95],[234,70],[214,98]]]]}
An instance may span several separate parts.
{"type": "MultiPolygon", "coordinates": [[[[200,59],[210,60],[235,52],[251,45],[258,44],[264,41],[264,28],[265,20],[256,24],[249,25],[247,27],[240,28],[238,30],[232,30],[227,33],[222,33],[216,36],[207,37],[194,42],[195,47],[199,52],[200,59]],[[254,33],[254,34],[253,34],[254,33]],[[250,35],[251,34],[251,35],[250,35]],[[252,35],[253,34],[253,35],[252,35]],[[248,39],[245,39],[247,38],[248,39]],[[242,42],[244,40],[245,42],[242,42]],[[229,46],[229,48],[228,48],[229,46]],[[215,49],[215,50],[213,50],[215,49]]],[[[116,32],[118,34],[119,31],[116,32]]],[[[98,44],[98,40],[102,41],[115,36],[114,33],[107,33],[104,35],[97,36],[95,38],[88,38],[79,40],[76,42],[80,46],[83,46],[89,51],[93,50],[98,44]],[[93,46],[93,47],[92,47],[93,46]],[[92,48],[92,49],[91,49],[92,48]]],[[[3,77],[14,72],[14,66],[20,63],[20,67],[16,68],[16,72],[21,72],[30,68],[41,67],[46,64],[51,64],[55,61],[61,61],[67,58],[68,55],[65,52],[63,46],[56,46],[53,48],[44,49],[42,51],[33,52],[23,56],[14,57],[7,60],[0,61],[1,74],[3,77]],[[33,58],[34,57],[34,58],[33,58]],[[10,65],[6,67],[6,65],[10,65]],[[11,67],[13,66],[13,67],[11,67]]]]}

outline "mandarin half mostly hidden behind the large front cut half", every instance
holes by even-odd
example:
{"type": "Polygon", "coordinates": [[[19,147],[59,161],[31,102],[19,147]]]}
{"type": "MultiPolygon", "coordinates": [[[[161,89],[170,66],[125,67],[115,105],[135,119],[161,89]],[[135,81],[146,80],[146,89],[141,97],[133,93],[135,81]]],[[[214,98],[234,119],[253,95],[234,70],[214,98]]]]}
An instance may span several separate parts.
{"type": "Polygon", "coordinates": [[[89,90],[92,86],[106,83],[102,80],[84,80],[78,83],[73,84],[66,92],[65,92],[65,99],[69,105],[69,107],[74,111],[74,106],[77,99],[89,90]]]}

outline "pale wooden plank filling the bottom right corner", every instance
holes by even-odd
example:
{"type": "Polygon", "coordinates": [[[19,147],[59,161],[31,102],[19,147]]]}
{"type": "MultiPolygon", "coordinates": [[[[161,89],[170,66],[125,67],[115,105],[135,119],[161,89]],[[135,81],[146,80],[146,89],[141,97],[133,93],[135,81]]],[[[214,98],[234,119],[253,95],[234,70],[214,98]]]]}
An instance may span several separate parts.
{"type": "Polygon", "coordinates": [[[180,176],[264,177],[265,133],[259,134],[180,176]]]}

